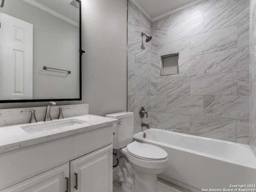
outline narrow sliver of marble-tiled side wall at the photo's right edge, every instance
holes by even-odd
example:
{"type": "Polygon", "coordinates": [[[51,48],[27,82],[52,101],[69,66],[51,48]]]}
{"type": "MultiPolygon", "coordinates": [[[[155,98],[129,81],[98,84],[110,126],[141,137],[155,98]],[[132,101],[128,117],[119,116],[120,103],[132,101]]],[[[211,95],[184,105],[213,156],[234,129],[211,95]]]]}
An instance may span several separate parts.
{"type": "MultiPolygon", "coordinates": [[[[250,0],[250,146],[256,156],[256,0],[250,0]]],[[[241,128],[241,135],[242,135],[241,128]]]]}

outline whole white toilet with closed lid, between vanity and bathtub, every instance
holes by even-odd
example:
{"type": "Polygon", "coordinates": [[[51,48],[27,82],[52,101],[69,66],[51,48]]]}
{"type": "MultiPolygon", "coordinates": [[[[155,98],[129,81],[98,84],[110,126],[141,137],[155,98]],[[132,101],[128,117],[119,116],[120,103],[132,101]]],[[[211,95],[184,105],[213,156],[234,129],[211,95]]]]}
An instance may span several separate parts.
{"type": "Polygon", "coordinates": [[[106,115],[118,119],[113,129],[113,149],[123,155],[119,166],[124,176],[123,192],[159,192],[157,174],[169,165],[165,150],[157,146],[132,141],[134,113],[120,112],[106,115]]]}

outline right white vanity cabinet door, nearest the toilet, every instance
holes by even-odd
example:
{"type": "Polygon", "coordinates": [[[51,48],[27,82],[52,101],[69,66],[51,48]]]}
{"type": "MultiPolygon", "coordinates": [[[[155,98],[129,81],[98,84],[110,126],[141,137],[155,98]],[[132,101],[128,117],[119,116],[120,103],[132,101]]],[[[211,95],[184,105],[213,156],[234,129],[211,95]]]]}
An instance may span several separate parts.
{"type": "Polygon", "coordinates": [[[70,162],[70,192],[112,192],[112,174],[111,144],[70,162]]]}

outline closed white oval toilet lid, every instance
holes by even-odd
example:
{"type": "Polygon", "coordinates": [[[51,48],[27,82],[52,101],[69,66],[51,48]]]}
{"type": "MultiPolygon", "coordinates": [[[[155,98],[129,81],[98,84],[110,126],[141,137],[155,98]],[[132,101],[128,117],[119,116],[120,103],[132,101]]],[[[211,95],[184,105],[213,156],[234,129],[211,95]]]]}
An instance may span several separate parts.
{"type": "Polygon", "coordinates": [[[136,141],[128,144],[127,150],[132,156],[146,160],[165,160],[168,156],[160,147],[136,141]]]}

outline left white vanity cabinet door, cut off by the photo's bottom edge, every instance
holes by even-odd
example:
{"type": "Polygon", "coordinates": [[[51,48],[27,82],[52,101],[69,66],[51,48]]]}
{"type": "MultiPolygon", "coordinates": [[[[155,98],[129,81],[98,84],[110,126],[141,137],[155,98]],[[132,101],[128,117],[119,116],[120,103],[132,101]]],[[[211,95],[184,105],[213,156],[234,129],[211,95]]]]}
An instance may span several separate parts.
{"type": "Polygon", "coordinates": [[[1,192],[65,192],[69,162],[10,186],[1,192]]]}

